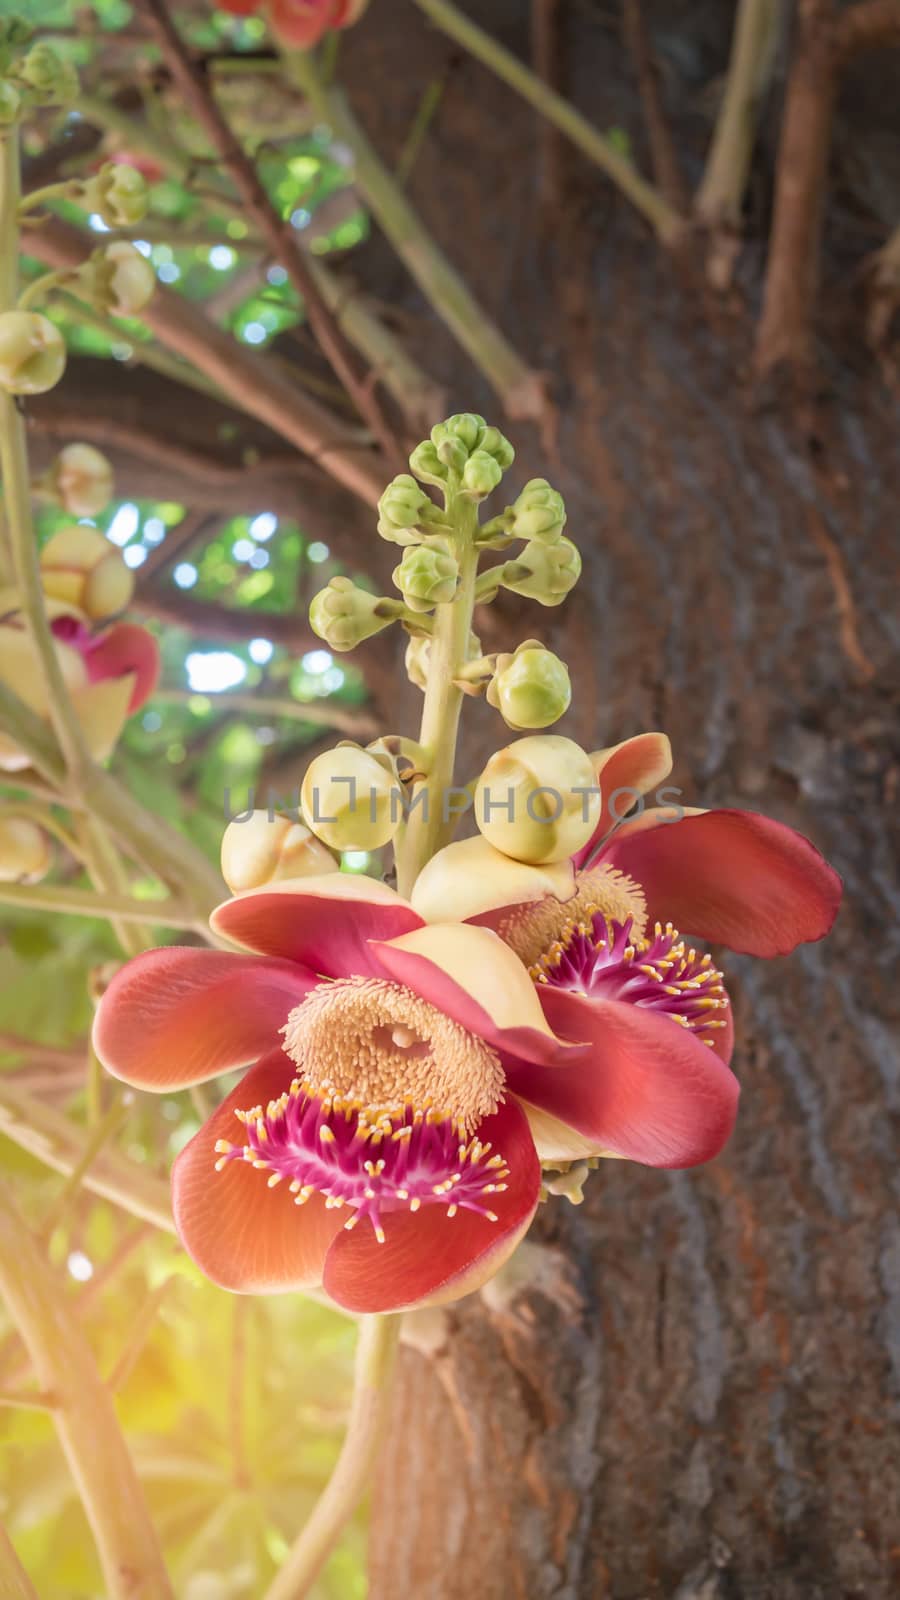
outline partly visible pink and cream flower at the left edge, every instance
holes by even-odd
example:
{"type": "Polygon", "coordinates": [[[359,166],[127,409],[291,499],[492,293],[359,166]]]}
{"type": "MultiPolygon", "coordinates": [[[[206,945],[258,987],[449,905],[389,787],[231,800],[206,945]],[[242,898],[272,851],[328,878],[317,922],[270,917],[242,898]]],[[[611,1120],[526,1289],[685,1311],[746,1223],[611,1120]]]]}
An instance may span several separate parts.
{"type": "MultiPolygon", "coordinates": [[[[94,629],[83,611],[62,600],[48,597],[45,610],[88,750],[94,760],[106,760],[127,718],[139,710],[157,685],[157,642],[135,622],[94,629]]],[[[43,672],[11,590],[0,592],[0,683],[50,722],[43,672]]],[[[16,773],[29,765],[27,754],[14,739],[0,734],[0,770],[16,773]]]]}

